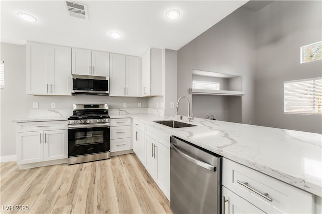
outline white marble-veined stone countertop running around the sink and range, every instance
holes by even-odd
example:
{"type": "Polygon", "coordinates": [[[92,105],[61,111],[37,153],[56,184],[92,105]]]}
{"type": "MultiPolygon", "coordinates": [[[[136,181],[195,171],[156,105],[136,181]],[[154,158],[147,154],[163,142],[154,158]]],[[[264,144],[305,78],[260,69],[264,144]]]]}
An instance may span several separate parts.
{"type": "MultiPolygon", "coordinates": [[[[153,121],[178,116],[149,113],[110,114],[136,118],[170,135],[222,155],[285,183],[322,197],[322,135],[248,124],[195,118],[196,127],[170,128],[153,121]]],[[[68,116],[26,117],[14,122],[67,120],[68,116]]],[[[178,120],[180,121],[180,120],[178,120]]],[[[187,122],[184,117],[182,122],[187,122]]]]}

